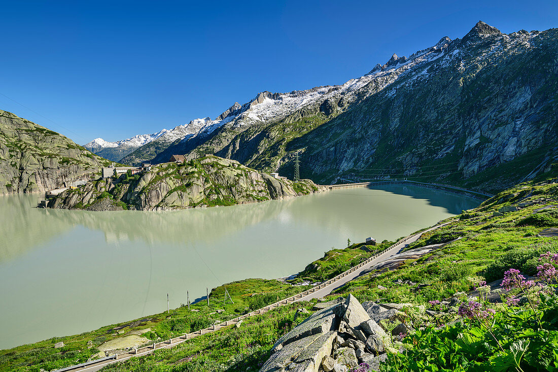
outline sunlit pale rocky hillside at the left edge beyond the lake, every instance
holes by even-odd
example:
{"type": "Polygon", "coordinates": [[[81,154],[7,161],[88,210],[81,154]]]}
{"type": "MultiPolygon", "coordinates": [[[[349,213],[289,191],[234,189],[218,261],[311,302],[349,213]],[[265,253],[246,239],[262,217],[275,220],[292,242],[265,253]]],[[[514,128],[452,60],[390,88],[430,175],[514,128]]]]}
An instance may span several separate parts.
{"type": "Polygon", "coordinates": [[[99,177],[109,164],[59,133],[0,110],[0,194],[68,187],[99,177]]]}

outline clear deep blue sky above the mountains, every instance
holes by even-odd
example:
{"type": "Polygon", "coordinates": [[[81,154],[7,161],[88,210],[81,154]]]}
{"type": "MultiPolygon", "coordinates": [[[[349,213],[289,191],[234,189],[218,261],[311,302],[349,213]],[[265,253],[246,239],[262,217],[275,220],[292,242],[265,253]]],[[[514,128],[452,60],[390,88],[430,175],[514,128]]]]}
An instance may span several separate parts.
{"type": "Polygon", "coordinates": [[[479,20],[558,27],[551,1],[3,1],[0,109],[79,144],[344,83],[479,20]],[[24,107],[25,106],[25,107],[24,107]]]}

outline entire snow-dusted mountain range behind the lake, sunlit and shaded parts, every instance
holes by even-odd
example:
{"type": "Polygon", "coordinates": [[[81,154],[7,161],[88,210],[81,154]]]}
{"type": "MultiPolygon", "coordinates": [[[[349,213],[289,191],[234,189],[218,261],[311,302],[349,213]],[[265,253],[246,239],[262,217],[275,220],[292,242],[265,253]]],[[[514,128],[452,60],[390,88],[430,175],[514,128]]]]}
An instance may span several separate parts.
{"type": "Polygon", "coordinates": [[[558,154],[557,92],[556,28],[507,35],[479,22],[342,85],[260,93],[152,160],[215,154],[292,175],[300,152],[301,175],[324,184],[389,176],[497,191],[558,154]]]}

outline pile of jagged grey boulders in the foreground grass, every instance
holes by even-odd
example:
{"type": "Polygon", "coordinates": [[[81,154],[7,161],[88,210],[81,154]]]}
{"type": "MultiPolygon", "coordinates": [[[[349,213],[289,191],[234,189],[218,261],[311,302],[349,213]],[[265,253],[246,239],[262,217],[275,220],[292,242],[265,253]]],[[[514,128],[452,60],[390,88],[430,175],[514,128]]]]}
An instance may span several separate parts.
{"type": "Polygon", "coordinates": [[[350,294],[319,304],[318,311],[276,342],[260,372],[347,372],[362,363],[378,369],[386,352],[396,351],[392,335],[407,330],[401,322],[391,331],[379,323],[383,319],[397,322],[398,307],[360,304],[350,294]]]}

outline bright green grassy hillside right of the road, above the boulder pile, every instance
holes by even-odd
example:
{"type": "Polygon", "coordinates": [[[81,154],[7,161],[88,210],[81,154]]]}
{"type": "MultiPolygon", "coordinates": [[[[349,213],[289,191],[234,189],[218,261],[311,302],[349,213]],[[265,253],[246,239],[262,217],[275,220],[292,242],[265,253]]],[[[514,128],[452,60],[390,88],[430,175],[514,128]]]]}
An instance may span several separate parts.
{"type": "MultiPolygon", "coordinates": [[[[495,273],[494,270],[497,270],[498,262],[507,253],[508,256],[513,256],[509,252],[520,252],[527,247],[526,251],[531,252],[531,256],[538,257],[538,251],[558,249],[557,238],[537,236],[545,227],[556,227],[558,219],[549,219],[546,226],[519,226],[528,216],[547,216],[548,213],[535,213],[535,210],[557,203],[558,184],[520,184],[496,195],[472,211],[451,218],[450,225],[426,233],[408,249],[453,240],[459,235],[462,235],[461,239],[450,242],[418,260],[409,260],[397,270],[362,276],[345,285],[340,292],[355,293],[361,300],[425,303],[449,297],[455,292],[472,290],[473,283],[480,280],[480,277],[487,280],[502,278],[503,272],[495,273]],[[499,208],[519,201],[538,202],[517,212],[493,216],[499,208]],[[430,286],[417,290],[416,286],[394,283],[397,279],[430,286]],[[387,289],[378,289],[378,285],[387,289]]],[[[513,267],[513,260],[509,261],[509,264],[513,267]]],[[[532,270],[534,266],[528,267],[518,263],[517,269],[532,270]]],[[[528,274],[534,273],[531,271],[528,274]]]]}

